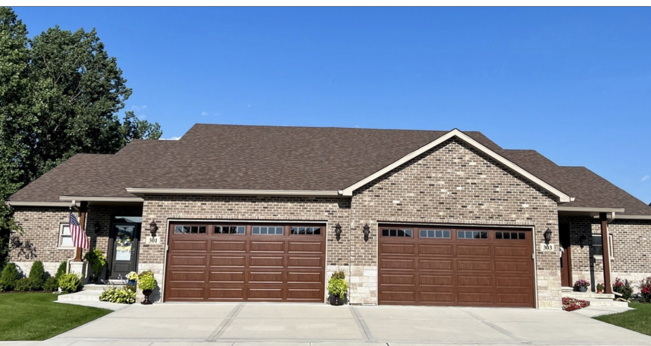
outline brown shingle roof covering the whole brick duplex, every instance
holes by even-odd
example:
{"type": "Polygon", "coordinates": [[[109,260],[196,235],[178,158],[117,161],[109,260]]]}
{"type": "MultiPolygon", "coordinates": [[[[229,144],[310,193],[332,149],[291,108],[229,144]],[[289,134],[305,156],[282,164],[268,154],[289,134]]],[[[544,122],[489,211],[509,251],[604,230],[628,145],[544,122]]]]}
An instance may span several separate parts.
{"type": "MultiPolygon", "coordinates": [[[[133,197],[126,188],[342,190],[446,133],[195,124],[178,141],[135,140],[115,155],[78,154],[10,201],[133,197]]],[[[566,205],[620,203],[616,208],[627,205],[626,214],[651,214],[651,207],[588,169],[559,167],[535,151],[502,149],[480,132],[465,134],[576,197],[566,205]]]]}

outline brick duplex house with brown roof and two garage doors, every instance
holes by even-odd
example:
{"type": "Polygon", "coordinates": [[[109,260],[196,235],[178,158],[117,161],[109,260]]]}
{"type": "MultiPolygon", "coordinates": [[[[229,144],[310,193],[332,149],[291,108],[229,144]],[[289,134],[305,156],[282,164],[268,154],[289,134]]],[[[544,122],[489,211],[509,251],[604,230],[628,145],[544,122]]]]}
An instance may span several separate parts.
{"type": "Polygon", "coordinates": [[[560,309],[575,280],[651,268],[646,203],[456,129],[196,124],[77,154],[7,203],[25,272],[76,257],[74,205],[102,276],[151,269],[163,302],[325,302],[344,270],[352,304],[560,309]]]}

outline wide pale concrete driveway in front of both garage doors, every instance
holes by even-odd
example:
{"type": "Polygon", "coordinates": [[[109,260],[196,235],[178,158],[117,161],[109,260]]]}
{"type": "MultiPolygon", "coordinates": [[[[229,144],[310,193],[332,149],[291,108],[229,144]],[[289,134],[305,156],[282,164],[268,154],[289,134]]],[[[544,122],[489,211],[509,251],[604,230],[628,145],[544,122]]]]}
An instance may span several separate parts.
{"type": "Polygon", "coordinates": [[[166,303],[134,304],[39,345],[180,346],[197,343],[214,346],[621,346],[651,345],[651,337],[565,311],[166,303]]]}

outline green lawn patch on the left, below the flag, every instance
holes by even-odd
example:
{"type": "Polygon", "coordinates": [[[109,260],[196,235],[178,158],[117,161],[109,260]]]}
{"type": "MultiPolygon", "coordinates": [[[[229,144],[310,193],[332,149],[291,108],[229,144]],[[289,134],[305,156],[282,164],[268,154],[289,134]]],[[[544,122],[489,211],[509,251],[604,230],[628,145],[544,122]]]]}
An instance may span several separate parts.
{"type": "Polygon", "coordinates": [[[52,293],[0,295],[0,340],[44,340],[89,323],[111,310],[54,302],[52,293]]]}

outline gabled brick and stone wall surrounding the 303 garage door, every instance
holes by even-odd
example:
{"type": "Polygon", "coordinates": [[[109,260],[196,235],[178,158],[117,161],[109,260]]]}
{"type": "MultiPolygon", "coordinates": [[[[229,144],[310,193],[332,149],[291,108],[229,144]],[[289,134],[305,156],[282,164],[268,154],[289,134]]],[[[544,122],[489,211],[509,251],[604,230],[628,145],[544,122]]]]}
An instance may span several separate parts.
{"type": "MultiPolygon", "coordinates": [[[[351,210],[353,304],[377,303],[377,280],[367,278],[377,277],[378,222],[530,226],[536,249],[549,227],[558,242],[553,197],[456,139],[363,186],[353,196],[351,210]],[[368,242],[362,237],[365,223],[371,229],[368,242]]],[[[538,307],[561,308],[557,253],[537,252],[534,270],[538,307]]]]}

